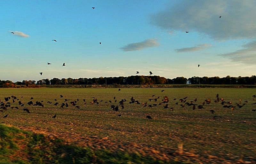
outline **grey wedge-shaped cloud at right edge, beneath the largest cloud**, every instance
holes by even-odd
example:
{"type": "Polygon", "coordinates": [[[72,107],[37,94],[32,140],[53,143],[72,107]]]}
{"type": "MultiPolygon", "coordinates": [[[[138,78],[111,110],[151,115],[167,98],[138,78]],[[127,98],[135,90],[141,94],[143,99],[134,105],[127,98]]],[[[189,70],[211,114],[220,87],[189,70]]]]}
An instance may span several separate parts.
{"type": "Polygon", "coordinates": [[[242,62],[246,64],[256,63],[256,41],[243,45],[244,49],[230,53],[220,54],[220,56],[231,59],[234,62],[242,62]]]}

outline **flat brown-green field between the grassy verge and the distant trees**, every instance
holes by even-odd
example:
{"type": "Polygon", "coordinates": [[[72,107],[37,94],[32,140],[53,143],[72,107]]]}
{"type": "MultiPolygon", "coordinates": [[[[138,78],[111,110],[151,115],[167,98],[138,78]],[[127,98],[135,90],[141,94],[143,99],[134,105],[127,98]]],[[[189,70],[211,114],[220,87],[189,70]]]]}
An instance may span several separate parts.
{"type": "MultiPolygon", "coordinates": [[[[64,88],[41,88],[41,89],[0,89],[0,99],[15,95],[25,104],[30,97],[35,101],[43,100],[44,108],[38,106],[28,106],[31,113],[26,113],[18,109],[8,109],[2,116],[9,114],[2,123],[11,124],[24,130],[36,133],[43,133],[47,136],[58,137],[67,143],[75,144],[79,147],[88,147],[93,153],[104,150],[98,154],[100,159],[111,159],[114,152],[122,152],[116,155],[113,163],[119,158],[141,159],[150,156],[157,160],[177,160],[184,162],[225,163],[232,161],[255,161],[256,151],[256,112],[252,109],[256,105],[252,103],[252,95],[256,94],[256,89],[225,89],[225,88],[124,88],[118,89],[64,89],[64,88]],[[224,101],[232,101],[233,105],[242,100],[248,103],[242,108],[235,108],[232,112],[227,108],[222,108],[220,103],[214,103],[216,94],[224,98],[224,101]],[[64,98],[75,100],[79,98],[78,105],[81,109],[71,107],[60,108],[49,105],[46,101],[59,103],[64,98]],[[141,104],[129,104],[129,99],[133,96],[139,102],[149,102],[152,95],[160,96],[157,104],[164,96],[168,96],[170,107],[174,111],[164,109],[163,105],[153,108],[143,107],[141,104]],[[126,98],[125,108],[120,112],[121,117],[116,116],[120,112],[114,112],[110,105],[118,105],[118,101],[113,102],[113,97],[118,101],[126,98]],[[188,102],[197,98],[197,104],[201,104],[205,99],[210,98],[212,103],[204,105],[205,109],[192,110],[191,106],[182,108],[180,102],[174,98],[184,98],[188,96],[188,102]],[[98,98],[99,105],[91,105],[92,97],[98,98]],[[82,99],[86,99],[84,105],[82,99]],[[111,100],[112,103],[105,103],[111,100]],[[179,102],[179,105],[175,105],[179,102]],[[215,114],[209,110],[213,109],[215,114]],[[57,117],[51,117],[56,114],[57,117]],[[146,119],[150,115],[153,119],[146,119]],[[221,116],[215,121],[214,115],[221,116]],[[105,137],[105,138],[104,138],[105,137]],[[178,144],[183,144],[183,154],[179,154],[178,144]],[[109,152],[109,154],[108,154],[109,152]],[[107,154],[107,155],[106,155],[107,154]],[[132,157],[131,154],[138,156],[132,157]],[[108,158],[109,157],[109,158],[108,158]],[[111,157],[111,158],[110,158],[111,157]]],[[[16,106],[15,102],[12,106],[16,106]]],[[[117,153],[118,154],[118,153],[117,153]]],[[[36,156],[36,154],[33,154],[36,156]]],[[[40,156],[40,155],[39,155],[40,156]]],[[[109,161],[108,161],[109,162],[109,161]]],[[[124,162],[124,161],[122,161],[124,162]]],[[[102,162],[100,162],[102,163],[102,162]]],[[[125,162],[124,162],[125,163],[125,162]]],[[[127,163],[127,162],[126,162],[127,163]]],[[[138,163],[138,162],[135,162],[138,163]]]]}

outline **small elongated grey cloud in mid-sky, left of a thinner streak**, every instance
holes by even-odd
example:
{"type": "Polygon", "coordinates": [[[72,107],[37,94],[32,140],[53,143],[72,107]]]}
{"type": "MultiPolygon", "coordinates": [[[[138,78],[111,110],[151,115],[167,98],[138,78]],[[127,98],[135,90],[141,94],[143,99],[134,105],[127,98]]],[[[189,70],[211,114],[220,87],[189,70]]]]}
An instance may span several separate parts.
{"type": "Polygon", "coordinates": [[[158,45],[159,44],[157,43],[156,39],[147,39],[142,42],[127,44],[120,49],[123,51],[138,51],[149,47],[156,47],[158,45]]]}

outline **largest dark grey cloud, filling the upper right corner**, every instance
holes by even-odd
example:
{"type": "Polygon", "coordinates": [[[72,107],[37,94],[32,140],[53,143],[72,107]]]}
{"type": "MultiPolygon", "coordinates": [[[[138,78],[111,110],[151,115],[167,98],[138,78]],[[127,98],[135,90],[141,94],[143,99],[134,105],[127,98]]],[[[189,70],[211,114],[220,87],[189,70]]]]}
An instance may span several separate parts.
{"type": "Polygon", "coordinates": [[[215,40],[256,37],[255,0],[180,0],[150,17],[167,30],[196,31],[215,40]],[[219,16],[222,16],[219,18],[219,16]]]}

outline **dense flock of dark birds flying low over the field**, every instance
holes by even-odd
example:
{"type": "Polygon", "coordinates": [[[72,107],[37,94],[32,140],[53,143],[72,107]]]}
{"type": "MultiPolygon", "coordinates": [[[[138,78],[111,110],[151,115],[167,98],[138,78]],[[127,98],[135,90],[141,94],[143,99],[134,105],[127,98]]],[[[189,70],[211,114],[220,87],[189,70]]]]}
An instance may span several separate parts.
{"type": "MultiPolygon", "coordinates": [[[[121,91],[121,89],[118,89],[118,91],[121,91]]],[[[161,92],[164,92],[164,90],[161,90],[161,92]]],[[[253,95],[253,100],[256,101],[256,95],[253,95]]],[[[21,98],[23,98],[23,96],[21,96],[21,98]]],[[[61,98],[61,102],[57,102],[57,98],[54,99],[53,102],[51,101],[47,101],[46,103],[47,104],[52,104],[53,106],[59,106],[60,104],[60,108],[67,108],[69,107],[69,105],[71,105],[72,107],[75,107],[77,109],[80,109],[81,106],[78,105],[78,102],[79,102],[79,99],[77,98],[76,100],[69,100],[67,98],[64,98],[63,95],[60,95],[60,98],[61,98]]],[[[91,105],[99,105],[100,103],[103,102],[103,100],[98,100],[97,98],[95,97],[92,97],[92,101],[90,101],[90,104],[91,105]]],[[[139,102],[139,100],[135,100],[135,98],[130,98],[130,102],[129,104],[137,104],[137,105],[142,105],[142,107],[148,107],[148,108],[153,108],[155,106],[159,106],[159,105],[163,105],[163,108],[164,109],[169,109],[170,111],[173,111],[174,110],[174,107],[170,107],[169,106],[169,98],[167,96],[164,96],[163,99],[161,99],[159,101],[159,98],[160,96],[156,97],[155,95],[152,95],[151,98],[148,99],[147,102],[139,102]]],[[[29,106],[41,106],[41,107],[44,107],[44,101],[36,101],[36,102],[33,102],[33,97],[30,98],[29,102],[25,103],[26,105],[29,105],[29,106]]],[[[199,103],[197,104],[197,98],[193,99],[192,101],[189,101],[188,100],[188,96],[184,97],[184,98],[174,98],[173,101],[177,100],[177,102],[175,102],[174,105],[180,105],[182,108],[184,108],[185,106],[189,106],[191,107],[193,110],[195,110],[196,108],[198,109],[205,109],[204,108],[204,105],[208,105],[210,103],[212,103],[211,99],[210,98],[207,98],[204,100],[203,103],[199,103]],[[188,101],[187,101],[188,100],[188,101]]],[[[127,100],[124,98],[124,99],[121,99],[120,101],[118,101],[118,105],[110,105],[110,109],[112,109],[113,111],[117,112],[119,111],[120,109],[124,109],[124,102],[126,102],[127,100]]],[[[219,94],[216,95],[216,99],[213,100],[214,103],[220,103],[221,105],[223,105],[222,107],[223,108],[228,108],[230,109],[231,111],[233,111],[235,108],[242,108],[244,107],[248,101],[244,101],[242,102],[242,100],[240,99],[239,100],[239,103],[236,103],[235,105],[232,104],[231,101],[224,101],[224,98],[220,98],[219,97],[219,94]]],[[[116,97],[113,98],[113,100],[108,100],[108,101],[105,101],[105,103],[112,103],[112,102],[115,102],[117,103],[117,99],[116,97]]],[[[85,99],[83,99],[82,101],[83,105],[87,105],[87,102],[85,99]]],[[[11,108],[11,109],[22,109],[23,111],[26,111],[27,113],[30,113],[29,109],[28,108],[24,108],[23,106],[25,105],[23,102],[21,102],[21,100],[19,98],[17,98],[16,96],[10,96],[10,97],[5,97],[4,98],[4,101],[1,101],[0,100],[0,112],[4,112],[4,111],[7,111],[8,108],[11,108]],[[18,102],[15,103],[15,102],[18,102]]],[[[89,104],[89,103],[88,103],[89,104]]],[[[253,105],[256,105],[256,102],[253,103],[253,105]]],[[[253,112],[256,112],[256,109],[252,109],[253,112]]],[[[212,110],[209,110],[209,112],[211,112],[212,114],[215,113],[215,111],[212,109],[212,110]]],[[[8,114],[4,115],[4,118],[6,118],[8,116],[8,114]]],[[[117,115],[117,116],[121,116],[121,112],[117,115]]],[[[221,116],[213,116],[212,119],[215,120],[216,118],[218,118],[221,116]]],[[[52,118],[56,118],[56,114],[54,116],[52,116],[52,118]]],[[[152,119],[151,116],[147,115],[146,118],[148,119],[152,119]]]]}

